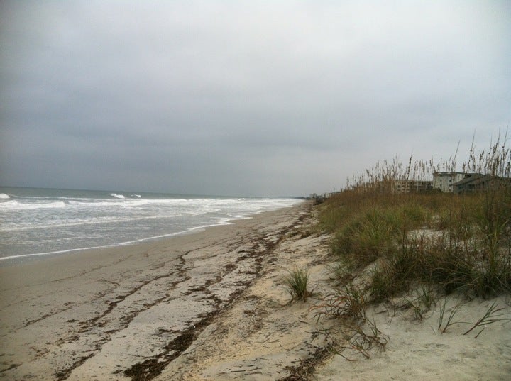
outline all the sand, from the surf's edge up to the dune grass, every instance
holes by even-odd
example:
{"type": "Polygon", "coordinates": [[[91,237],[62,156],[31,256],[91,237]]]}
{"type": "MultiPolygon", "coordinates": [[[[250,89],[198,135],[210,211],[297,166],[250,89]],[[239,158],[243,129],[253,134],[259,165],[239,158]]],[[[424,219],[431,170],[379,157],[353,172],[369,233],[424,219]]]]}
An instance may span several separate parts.
{"type": "MultiPolygon", "coordinates": [[[[310,205],[156,243],[0,267],[1,380],[280,380],[314,357],[342,322],[311,305],[331,289],[329,236],[309,235],[310,205]],[[288,270],[307,268],[316,295],[290,303],[288,270]]],[[[451,304],[459,302],[449,299],[451,304]]],[[[493,301],[463,305],[476,321],[493,301]]],[[[510,312],[509,300],[498,300],[510,312]]],[[[439,333],[440,304],[368,311],[388,336],[366,359],[334,355],[317,380],[508,380],[511,324],[439,333]]],[[[304,380],[290,378],[290,380],[304,380]]]]}

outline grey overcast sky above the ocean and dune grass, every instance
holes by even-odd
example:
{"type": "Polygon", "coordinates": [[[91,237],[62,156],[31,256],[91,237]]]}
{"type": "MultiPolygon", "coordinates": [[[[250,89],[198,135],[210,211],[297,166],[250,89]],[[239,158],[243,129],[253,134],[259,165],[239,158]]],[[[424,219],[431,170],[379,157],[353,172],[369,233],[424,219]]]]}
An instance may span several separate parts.
{"type": "Polygon", "coordinates": [[[511,120],[511,2],[0,2],[0,185],[307,195],[511,120]]]}

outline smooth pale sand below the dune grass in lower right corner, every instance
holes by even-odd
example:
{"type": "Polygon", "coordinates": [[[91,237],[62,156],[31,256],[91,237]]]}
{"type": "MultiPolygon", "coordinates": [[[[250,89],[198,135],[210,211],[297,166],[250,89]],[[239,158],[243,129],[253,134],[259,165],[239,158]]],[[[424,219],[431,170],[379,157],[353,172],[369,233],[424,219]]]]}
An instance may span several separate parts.
{"type": "MultiPolygon", "coordinates": [[[[444,325],[450,309],[463,304],[453,321],[476,323],[493,302],[511,318],[505,298],[467,302],[461,297],[448,297],[444,325]]],[[[445,333],[439,331],[440,309],[444,299],[427,312],[422,321],[414,320],[412,311],[392,311],[380,305],[368,311],[380,331],[388,336],[385,350],[370,350],[366,359],[356,350],[344,350],[347,361],[335,355],[319,367],[319,381],[334,380],[510,380],[511,323],[499,321],[463,335],[472,324],[453,324],[445,333]]]]}

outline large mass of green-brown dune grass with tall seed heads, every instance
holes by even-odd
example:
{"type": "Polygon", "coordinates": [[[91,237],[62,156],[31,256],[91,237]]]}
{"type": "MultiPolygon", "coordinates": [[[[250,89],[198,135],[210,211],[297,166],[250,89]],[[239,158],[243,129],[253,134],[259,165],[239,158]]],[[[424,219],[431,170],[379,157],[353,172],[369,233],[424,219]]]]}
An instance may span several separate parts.
{"type": "MultiPolygon", "coordinates": [[[[456,171],[456,155],[439,164],[378,162],[319,206],[341,267],[375,263],[368,285],[383,301],[417,283],[476,297],[511,292],[511,152],[507,135],[487,151],[475,144],[452,193],[428,189],[435,172],[456,171]],[[502,141],[503,140],[503,141],[502,141]]],[[[333,310],[335,310],[333,308],[333,310]]]]}

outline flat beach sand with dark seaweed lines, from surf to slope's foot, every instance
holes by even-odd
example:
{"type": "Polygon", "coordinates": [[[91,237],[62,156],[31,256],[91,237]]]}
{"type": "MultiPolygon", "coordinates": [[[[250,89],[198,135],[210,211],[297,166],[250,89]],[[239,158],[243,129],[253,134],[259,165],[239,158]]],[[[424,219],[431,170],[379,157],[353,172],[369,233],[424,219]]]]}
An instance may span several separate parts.
{"type": "Polygon", "coordinates": [[[136,380],[173,369],[309,210],[0,267],[0,378],[136,380]]]}

